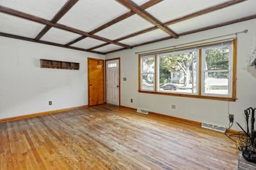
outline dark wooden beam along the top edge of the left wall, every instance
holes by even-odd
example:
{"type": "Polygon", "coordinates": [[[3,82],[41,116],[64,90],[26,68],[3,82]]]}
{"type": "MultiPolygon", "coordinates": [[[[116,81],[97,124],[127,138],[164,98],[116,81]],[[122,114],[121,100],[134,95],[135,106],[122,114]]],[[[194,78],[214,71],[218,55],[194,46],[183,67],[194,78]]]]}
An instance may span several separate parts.
{"type": "Polygon", "coordinates": [[[74,47],[74,46],[65,46],[65,45],[61,45],[61,44],[58,44],[58,43],[52,43],[52,42],[49,42],[49,41],[42,41],[42,40],[36,40],[36,39],[33,39],[33,38],[26,38],[24,36],[6,34],[4,32],[0,32],[0,36],[13,38],[13,39],[20,39],[20,40],[24,40],[24,41],[30,41],[30,42],[33,42],[33,43],[41,43],[41,44],[45,44],[45,45],[59,46],[59,47],[62,47],[62,48],[68,48],[68,49],[72,49],[72,50],[79,50],[79,51],[83,51],[83,52],[104,54],[102,52],[96,52],[96,51],[93,51],[93,50],[86,50],[84,48],[77,48],[77,47],[74,47]]]}

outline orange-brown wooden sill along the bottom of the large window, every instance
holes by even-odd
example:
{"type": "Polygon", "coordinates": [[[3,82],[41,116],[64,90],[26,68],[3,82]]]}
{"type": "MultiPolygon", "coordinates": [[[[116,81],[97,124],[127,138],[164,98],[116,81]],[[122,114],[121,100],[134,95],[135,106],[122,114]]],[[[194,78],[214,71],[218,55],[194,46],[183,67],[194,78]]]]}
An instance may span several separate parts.
{"type": "Polygon", "coordinates": [[[192,98],[198,98],[198,99],[236,102],[236,98],[234,97],[199,96],[195,94],[175,94],[175,93],[166,93],[166,92],[152,92],[152,91],[145,91],[145,90],[138,90],[138,92],[147,93],[147,94],[160,94],[160,95],[166,95],[166,96],[192,97],[192,98]]]}

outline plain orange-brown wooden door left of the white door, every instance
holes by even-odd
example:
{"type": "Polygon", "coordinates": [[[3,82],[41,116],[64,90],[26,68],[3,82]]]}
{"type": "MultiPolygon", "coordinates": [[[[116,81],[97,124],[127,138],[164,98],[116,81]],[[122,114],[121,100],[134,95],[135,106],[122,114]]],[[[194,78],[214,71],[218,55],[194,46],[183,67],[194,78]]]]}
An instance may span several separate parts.
{"type": "Polygon", "coordinates": [[[88,104],[104,104],[104,60],[88,58],[88,104]]]}

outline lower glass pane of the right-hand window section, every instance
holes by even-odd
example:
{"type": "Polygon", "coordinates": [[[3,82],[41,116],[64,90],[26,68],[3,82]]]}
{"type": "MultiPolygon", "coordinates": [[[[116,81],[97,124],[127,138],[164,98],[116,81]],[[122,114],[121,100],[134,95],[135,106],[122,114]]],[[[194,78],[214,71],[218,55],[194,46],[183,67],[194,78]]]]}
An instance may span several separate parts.
{"type": "Polygon", "coordinates": [[[205,73],[205,94],[228,95],[228,71],[205,73]]]}

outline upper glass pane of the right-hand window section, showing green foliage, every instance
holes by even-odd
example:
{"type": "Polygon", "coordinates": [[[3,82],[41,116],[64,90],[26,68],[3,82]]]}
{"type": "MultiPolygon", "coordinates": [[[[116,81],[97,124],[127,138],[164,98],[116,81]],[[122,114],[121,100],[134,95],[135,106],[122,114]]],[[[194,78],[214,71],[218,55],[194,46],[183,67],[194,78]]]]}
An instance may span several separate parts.
{"type": "Polygon", "coordinates": [[[228,70],[229,46],[205,50],[205,70],[228,70]]]}

